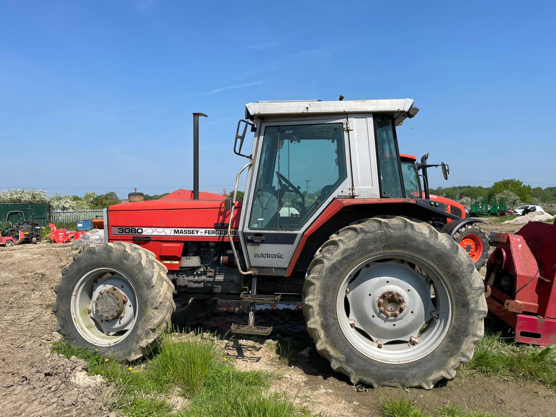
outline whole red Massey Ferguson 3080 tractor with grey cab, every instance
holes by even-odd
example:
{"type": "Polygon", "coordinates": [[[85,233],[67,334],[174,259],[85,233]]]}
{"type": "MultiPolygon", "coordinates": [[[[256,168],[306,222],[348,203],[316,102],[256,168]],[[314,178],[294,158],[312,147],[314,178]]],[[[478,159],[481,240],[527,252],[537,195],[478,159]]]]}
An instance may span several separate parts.
{"type": "Polygon", "coordinates": [[[354,384],[452,378],[483,336],[486,301],[469,255],[429,224],[459,216],[406,195],[396,126],[417,112],[410,99],[249,103],[231,201],[199,192],[205,115],[193,113],[193,190],[105,211],[108,243],[77,255],[55,288],[57,330],[132,361],[170,319],[192,325],[218,299],[249,302],[231,331],[263,336],[257,302],[302,301],[317,351],[354,384]]]}

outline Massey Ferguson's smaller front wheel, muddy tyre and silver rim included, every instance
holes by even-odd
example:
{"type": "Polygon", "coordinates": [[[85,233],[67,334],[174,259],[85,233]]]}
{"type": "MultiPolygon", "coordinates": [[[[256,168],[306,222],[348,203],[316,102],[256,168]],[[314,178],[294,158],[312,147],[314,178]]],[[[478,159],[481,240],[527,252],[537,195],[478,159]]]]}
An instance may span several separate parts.
{"type": "Polygon", "coordinates": [[[103,356],[133,361],[150,354],[175,310],[173,284],[155,255],[138,245],[90,246],[54,287],[56,330],[103,356]]]}

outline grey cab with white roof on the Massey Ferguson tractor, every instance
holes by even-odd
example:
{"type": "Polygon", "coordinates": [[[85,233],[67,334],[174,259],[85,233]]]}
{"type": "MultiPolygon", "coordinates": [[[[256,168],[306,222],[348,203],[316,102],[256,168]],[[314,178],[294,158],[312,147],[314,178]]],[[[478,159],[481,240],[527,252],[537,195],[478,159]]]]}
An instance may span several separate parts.
{"type": "Polygon", "coordinates": [[[342,201],[418,201],[445,217],[444,205],[419,198],[402,173],[396,126],[417,112],[410,99],[247,104],[234,146],[249,160],[239,173],[249,168],[239,230],[247,265],[289,275],[307,231],[342,201]]]}

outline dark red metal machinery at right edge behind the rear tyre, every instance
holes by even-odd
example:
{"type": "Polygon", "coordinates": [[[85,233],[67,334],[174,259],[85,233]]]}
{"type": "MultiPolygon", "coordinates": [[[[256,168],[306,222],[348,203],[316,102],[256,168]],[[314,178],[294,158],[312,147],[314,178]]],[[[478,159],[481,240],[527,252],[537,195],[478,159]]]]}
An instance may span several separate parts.
{"type": "Polygon", "coordinates": [[[515,341],[556,343],[556,221],[529,222],[491,239],[499,244],[486,267],[489,311],[514,328],[515,341]]]}

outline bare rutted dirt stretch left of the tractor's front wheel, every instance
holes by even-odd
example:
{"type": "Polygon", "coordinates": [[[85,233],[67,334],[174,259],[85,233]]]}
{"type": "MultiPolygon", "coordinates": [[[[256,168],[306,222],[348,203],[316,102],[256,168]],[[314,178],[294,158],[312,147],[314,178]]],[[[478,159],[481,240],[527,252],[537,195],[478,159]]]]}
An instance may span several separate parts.
{"type": "Polygon", "coordinates": [[[102,386],[84,378],[85,361],[49,353],[53,287],[71,261],[64,245],[0,247],[0,415],[96,415],[102,386]],[[93,414],[90,414],[93,413],[93,414]]]}

